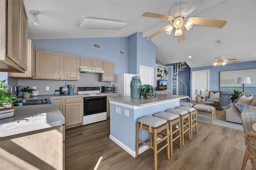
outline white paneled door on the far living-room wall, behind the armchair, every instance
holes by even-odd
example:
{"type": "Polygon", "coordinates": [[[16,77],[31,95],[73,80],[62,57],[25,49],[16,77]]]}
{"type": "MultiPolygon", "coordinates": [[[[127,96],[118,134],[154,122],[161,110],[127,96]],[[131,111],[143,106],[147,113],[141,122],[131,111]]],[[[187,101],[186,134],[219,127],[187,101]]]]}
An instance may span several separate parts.
{"type": "Polygon", "coordinates": [[[191,79],[191,97],[196,100],[196,89],[206,89],[209,91],[209,74],[210,70],[192,71],[191,79]]]}

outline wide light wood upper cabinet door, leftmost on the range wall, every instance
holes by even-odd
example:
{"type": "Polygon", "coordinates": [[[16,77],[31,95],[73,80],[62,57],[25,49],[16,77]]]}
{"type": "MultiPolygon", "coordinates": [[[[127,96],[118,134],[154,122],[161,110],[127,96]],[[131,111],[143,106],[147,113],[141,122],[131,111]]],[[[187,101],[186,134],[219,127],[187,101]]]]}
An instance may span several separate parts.
{"type": "Polygon", "coordinates": [[[36,50],[36,79],[62,79],[63,56],[61,53],[36,50]]]}

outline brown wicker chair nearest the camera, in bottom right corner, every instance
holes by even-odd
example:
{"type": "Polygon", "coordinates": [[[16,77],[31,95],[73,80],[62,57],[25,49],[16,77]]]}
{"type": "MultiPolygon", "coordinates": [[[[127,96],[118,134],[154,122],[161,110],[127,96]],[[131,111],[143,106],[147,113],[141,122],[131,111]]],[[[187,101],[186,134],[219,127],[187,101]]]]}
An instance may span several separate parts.
{"type": "Polygon", "coordinates": [[[256,133],[247,132],[244,135],[244,142],[252,163],[252,170],[256,170],[256,133]]]}

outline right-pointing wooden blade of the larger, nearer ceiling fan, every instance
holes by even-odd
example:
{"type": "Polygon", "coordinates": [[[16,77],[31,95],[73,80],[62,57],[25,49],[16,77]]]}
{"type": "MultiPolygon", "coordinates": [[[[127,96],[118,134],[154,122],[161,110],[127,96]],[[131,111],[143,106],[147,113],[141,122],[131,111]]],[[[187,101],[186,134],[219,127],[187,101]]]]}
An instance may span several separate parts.
{"type": "Polygon", "coordinates": [[[209,26],[209,27],[217,27],[222,28],[227,21],[226,20],[216,20],[216,19],[210,19],[210,18],[197,18],[197,17],[191,17],[194,20],[194,24],[201,25],[201,26],[209,26]]]}

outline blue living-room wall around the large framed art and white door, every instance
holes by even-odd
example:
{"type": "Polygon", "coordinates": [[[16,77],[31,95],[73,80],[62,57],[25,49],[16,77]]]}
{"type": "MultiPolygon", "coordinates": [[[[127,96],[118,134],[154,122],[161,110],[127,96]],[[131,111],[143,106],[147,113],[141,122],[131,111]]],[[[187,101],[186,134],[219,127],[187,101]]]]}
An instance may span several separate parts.
{"type": "MultiPolygon", "coordinates": [[[[191,68],[191,72],[210,70],[210,89],[209,90],[220,91],[220,71],[255,69],[255,68],[256,68],[256,61],[248,61],[248,62],[242,62],[242,63],[227,64],[225,66],[219,66],[219,67],[206,66],[206,67],[191,68]]],[[[253,95],[255,96],[256,94],[253,94],[253,95]]],[[[228,95],[222,95],[221,105],[225,107],[229,103],[231,103],[231,101],[228,101],[228,95]]]]}

